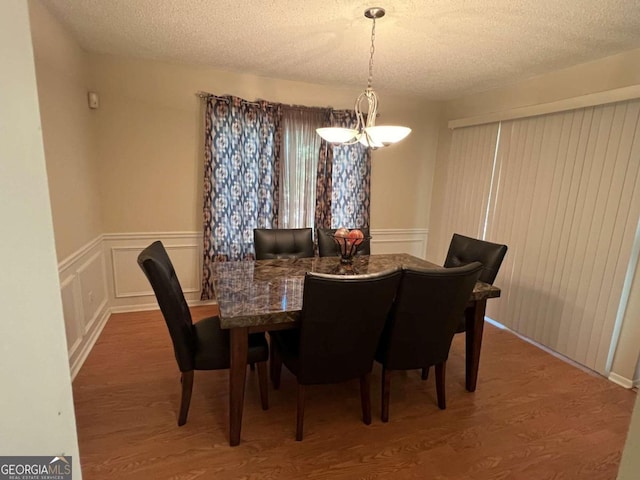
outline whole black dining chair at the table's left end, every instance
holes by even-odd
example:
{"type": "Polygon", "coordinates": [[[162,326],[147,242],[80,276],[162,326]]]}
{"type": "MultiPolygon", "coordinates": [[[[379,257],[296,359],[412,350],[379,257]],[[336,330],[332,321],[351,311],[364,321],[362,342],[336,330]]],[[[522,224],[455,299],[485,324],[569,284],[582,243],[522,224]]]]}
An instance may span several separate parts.
{"type": "MultiPolygon", "coordinates": [[[[173,351],[181,372],[182,394],[178,425],[184,425],[189,413],[194,370],[219,370],[230,366],[229,332],[220,328],[220,318],[208,317],[192,322],[180,282],[169,255],[156,241],[138,256],[138,264],[147,276],[169,329],[173,351]]],[[[258,368],[260,399],[263,410],[269,408],[267,393],[267,358],[269,346],[264,334],[249,336],[247,363],[258,368]]]]}

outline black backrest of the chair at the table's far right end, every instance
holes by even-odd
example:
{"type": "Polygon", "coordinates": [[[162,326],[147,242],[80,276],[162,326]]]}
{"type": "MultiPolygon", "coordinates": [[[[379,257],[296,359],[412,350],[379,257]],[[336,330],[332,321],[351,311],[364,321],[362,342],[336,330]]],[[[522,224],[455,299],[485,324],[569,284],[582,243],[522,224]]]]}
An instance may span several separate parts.
{"type": "Polygon", "coordinates": [[[479,280],[493,284],[506,253],[506,245],[454,233],[449,244],[444,266],[447,268],[459,267],[471,262],[480,262],[483,269],[479,280]]]}

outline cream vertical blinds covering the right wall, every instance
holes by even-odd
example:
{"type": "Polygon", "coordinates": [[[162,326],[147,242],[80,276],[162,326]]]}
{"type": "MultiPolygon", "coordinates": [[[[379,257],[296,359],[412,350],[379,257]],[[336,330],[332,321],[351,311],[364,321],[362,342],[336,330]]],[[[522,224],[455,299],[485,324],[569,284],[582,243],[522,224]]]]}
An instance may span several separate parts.
{"type": "MultiPolygon", "coordinates": [[[[487,128],[454,132],[452,153],[487,128]]],[[[445,205],[456,228],[509,246],[487,315],[605,374],[640,216],[640,100],[502,122],[495,143],[490,167],[488,143],[452,162],[463,199],[445,205]],[[487,182],[484,220],[479,205],[456,213],[487,182]]]]}

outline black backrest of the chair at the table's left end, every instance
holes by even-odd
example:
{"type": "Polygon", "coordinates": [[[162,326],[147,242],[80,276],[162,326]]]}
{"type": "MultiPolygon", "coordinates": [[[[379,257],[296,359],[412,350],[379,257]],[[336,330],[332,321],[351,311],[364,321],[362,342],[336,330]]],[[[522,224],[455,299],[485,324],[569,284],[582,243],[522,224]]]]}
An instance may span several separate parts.
{"type": "Polygon", "coordinates": [[[162,242],[156,241],[138,255],[138,265],[151,283],[169,329],[181,372],[194,369],[195,334],[189,306],[175,269],[162,242]]]}

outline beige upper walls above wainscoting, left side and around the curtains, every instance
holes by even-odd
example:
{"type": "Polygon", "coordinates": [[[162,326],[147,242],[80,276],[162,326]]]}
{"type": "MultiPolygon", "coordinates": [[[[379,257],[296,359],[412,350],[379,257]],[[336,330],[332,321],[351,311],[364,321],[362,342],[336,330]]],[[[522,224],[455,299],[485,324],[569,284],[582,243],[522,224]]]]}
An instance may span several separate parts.
{"type": "MultiPolygon", "coordinates": [[[[361,90],[90,54],[41,2],[29,5],[59,260],[101,233],[201,230],[197,91],[350,109],[361,90]]],[[[440,104],[378,94],[378,123],[413,133],[373,154],[371,225],[427,228],[440,104]]]]}

